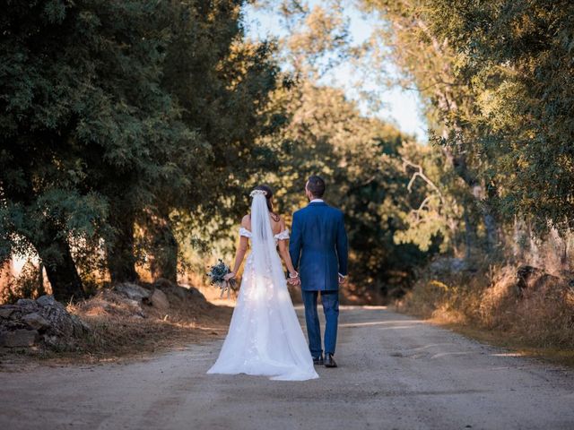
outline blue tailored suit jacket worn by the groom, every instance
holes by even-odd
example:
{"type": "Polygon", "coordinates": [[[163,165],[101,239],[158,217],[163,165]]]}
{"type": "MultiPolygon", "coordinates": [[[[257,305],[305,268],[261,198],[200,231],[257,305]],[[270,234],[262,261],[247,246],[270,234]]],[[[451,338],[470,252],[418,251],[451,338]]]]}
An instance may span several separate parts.
{"type": "Polygon", "coordinates": [[[306,291],[339,289],[338,273],[347,274],[344,215],[325,202],[311,202],[293,213],[289,254],[306,291]]]}

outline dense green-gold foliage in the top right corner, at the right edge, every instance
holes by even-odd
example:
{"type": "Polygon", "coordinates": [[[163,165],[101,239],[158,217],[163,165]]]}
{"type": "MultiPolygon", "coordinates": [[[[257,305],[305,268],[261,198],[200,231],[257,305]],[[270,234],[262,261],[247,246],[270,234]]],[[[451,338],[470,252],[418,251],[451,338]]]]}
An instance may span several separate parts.
{"type": "Polygon", "coordinates": [[[473,88],[480,151],[496,155],[486,175],[496,185],[501,215],[518,214],[538,231],[568,228],[574,213],[574,4],[431,4],[433,31],[457,34],[457,73],[473,88]]]}

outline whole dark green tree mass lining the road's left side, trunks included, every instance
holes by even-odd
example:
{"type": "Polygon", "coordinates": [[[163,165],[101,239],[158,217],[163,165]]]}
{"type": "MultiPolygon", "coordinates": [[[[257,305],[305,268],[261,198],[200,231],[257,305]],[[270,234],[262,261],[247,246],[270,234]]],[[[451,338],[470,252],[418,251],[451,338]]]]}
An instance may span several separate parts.
{"type": "Polygon", "coordinates": [[[38,253],[57,295],[79,296],[73,254],[102,255],[103,240],[112,280],[135,279],[135,222],[170,239],[172,211],[230,207],[214,199],[237,190],[241,157],[263,157],[277,82],[273,46],[242,40],[242,4],[3,5],[4,255],[38,253]]]}

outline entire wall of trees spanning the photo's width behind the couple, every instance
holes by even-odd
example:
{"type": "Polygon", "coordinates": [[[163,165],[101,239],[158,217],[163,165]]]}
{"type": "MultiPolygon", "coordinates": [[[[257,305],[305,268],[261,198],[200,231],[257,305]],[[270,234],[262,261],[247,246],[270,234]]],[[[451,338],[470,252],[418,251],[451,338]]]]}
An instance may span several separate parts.
{"type": "Polygon", "coordinates": [[[339,0],[4,0],[0,260],[37,255],[61,300],[92,271],[177,281],[206,240],[230,244],[253,185],[289,218],[311,174],[363,292],[400,294],[435,254],[503,258],[520,228],[570,231],[574,6],[358,4],[377,22],[361,46],[339,0]],[[282,36],[247,37],[254,3],[282,36]],[[421,94],[428,144],[323,79],[380,61],[421,94]]]}

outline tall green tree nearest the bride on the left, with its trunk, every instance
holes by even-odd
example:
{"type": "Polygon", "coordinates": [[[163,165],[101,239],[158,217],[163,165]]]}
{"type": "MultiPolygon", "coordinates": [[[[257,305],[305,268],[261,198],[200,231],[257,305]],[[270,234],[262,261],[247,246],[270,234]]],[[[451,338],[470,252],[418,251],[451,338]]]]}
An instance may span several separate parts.
{"type": "MultiPolygon", "coordinates": [[[[157,201],[141,219],[150,233],[152,272],[176,279],[178,240],[214,218],[239,216],[235,196],[253,168],[270,167],[274,155],[257,143],[281,120],[266,108],[279,81],[274,44],[245,40],[245,1],[174,4],[162,87],[178,100],[182,121],[196,131],[195,153],[185,172],[161,184],[157,201]],[[227,196],[227,199],[223,197],[227,196]]],[[[241,206],[241,205],[239,205],[241,206]]]]}

